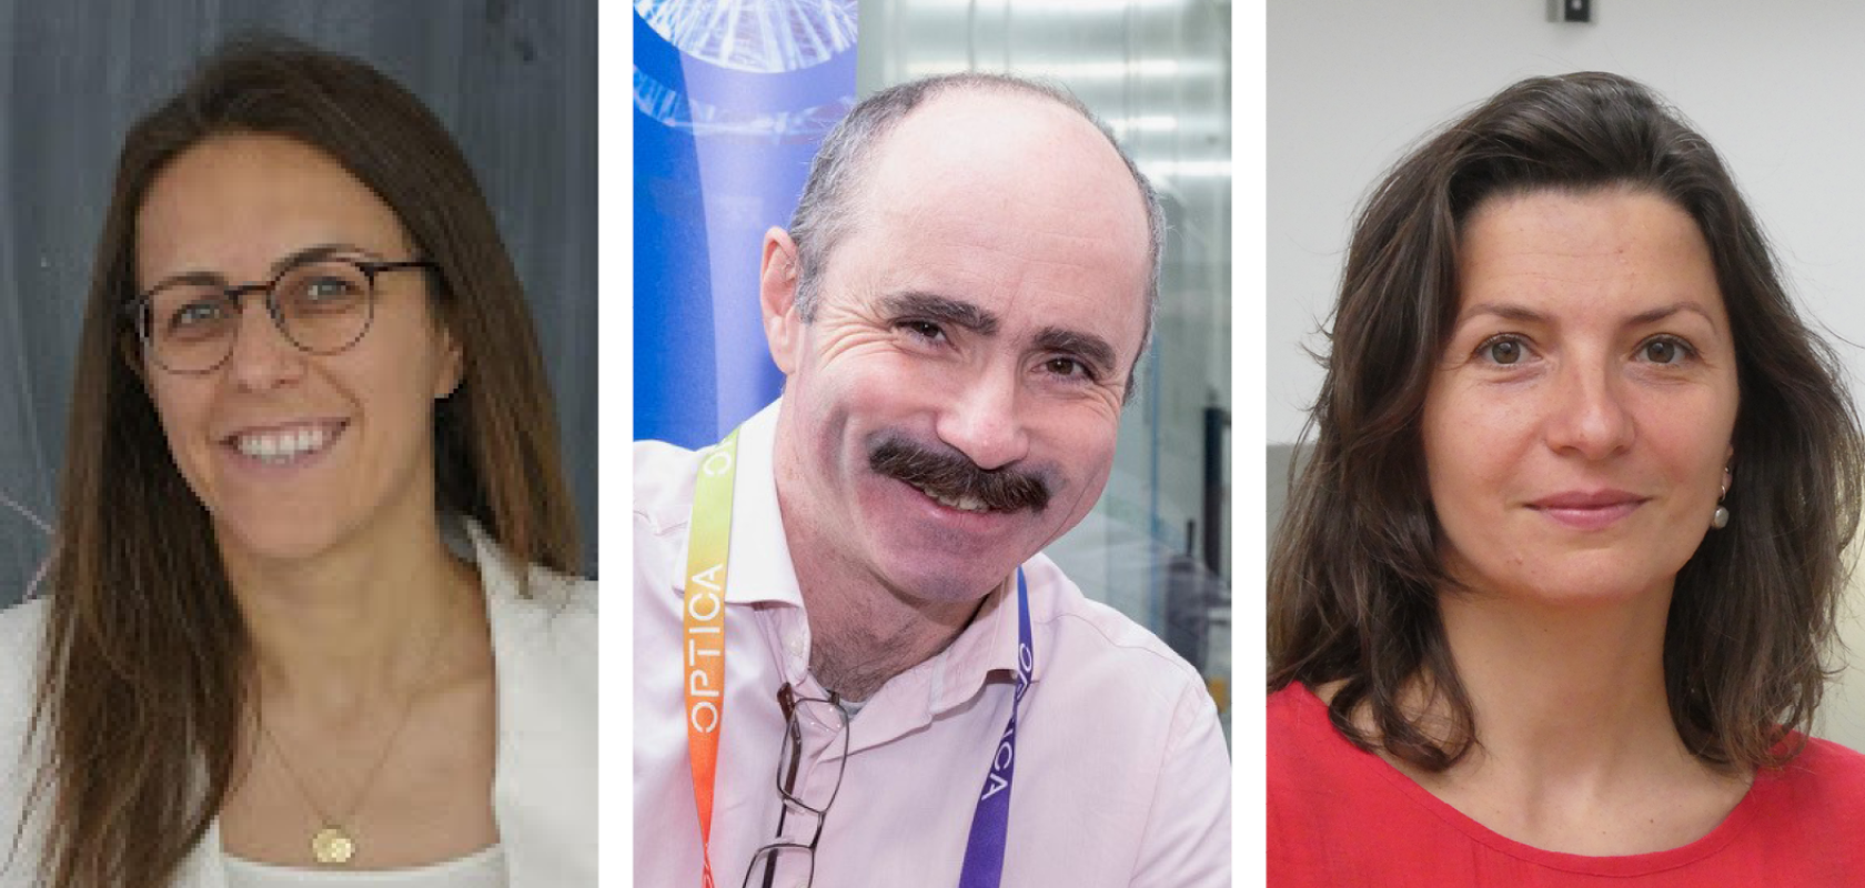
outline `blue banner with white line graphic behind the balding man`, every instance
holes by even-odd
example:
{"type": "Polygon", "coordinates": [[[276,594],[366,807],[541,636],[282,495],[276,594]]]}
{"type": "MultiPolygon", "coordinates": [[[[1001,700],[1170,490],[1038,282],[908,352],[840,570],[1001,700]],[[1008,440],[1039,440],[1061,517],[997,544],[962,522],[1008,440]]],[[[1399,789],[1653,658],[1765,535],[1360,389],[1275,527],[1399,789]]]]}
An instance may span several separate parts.
{"type": "Polygon", "coordinates": [[[634,2],[634,435],[712,444],[776,399],[763,233],[854,104],[856,0],[634,2]]]}

